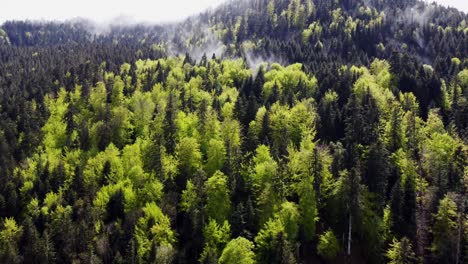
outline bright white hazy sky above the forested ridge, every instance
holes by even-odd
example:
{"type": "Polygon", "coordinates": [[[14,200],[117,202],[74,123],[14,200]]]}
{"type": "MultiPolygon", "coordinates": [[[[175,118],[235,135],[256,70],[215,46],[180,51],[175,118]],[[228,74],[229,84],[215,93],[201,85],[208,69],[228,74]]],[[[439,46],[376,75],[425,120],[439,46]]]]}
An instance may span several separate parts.
{"type": "MultiPolygon", "coordinates": [[[[431,0],[432,1],[432,0],[431,0]]],[[[125,17],[132,22],[172,22],[215,7],[224,0],[1,0],[5,20],[67,20],[77,17],[108,22],[125,17]]],[[[468,12],[468,0],[436,0],[468,12]]]]}

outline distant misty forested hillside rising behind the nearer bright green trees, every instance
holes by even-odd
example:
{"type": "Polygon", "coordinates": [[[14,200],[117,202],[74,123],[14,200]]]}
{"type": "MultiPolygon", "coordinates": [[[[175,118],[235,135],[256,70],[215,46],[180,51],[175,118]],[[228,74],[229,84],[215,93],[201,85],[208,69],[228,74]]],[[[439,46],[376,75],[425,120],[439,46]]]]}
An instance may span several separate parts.
{"type": "MultiPolygon", "coordinates": [[[[453,74],[454,58],[461,68],[466,65],[467,24],[463,12],[416,0],[241,0],[167,25],[6,22],[0,43],[71,46],[76,53],[89,45],[108,47],[111,50],[91,59],[113,57],[110,69],[124,61],[117,59],[121,56],[131,62],[186,53],[196,60],[204,53],[242,57],[251,67],[261,62],[300,62],[317,75],[323,89],[333,85],[329,76],[341,65],[368,66],[381,58],[402,77],[398,87],[409,91],[430,86],[418,83],[417,76],[406,76],[418,74],[424,64],[434,69],[436,79],[453,74]],[[112,50],[122,49],[131,52],[113,54],[112,50]],[[114,60],[119,63],[114,65],[114,60]]],[[[421,101],[423,112],[437,97],[437,89],[421,91],[431,94],[421,101]]]]}

